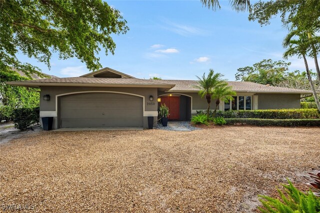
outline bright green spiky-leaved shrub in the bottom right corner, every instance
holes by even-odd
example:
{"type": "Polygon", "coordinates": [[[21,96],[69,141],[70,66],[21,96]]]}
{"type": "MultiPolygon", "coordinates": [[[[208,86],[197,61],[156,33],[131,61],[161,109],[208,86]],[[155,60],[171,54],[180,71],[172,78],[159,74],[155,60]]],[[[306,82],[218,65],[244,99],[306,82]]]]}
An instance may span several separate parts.
{"type": "Polygon", "coordinates": [[[281,198],[259,195],[263,208],[258,209],[263,213],[268,212],[320,212],[320,198],[311,191],[303,193],[296,189],[288,180],[289,185],[284,185],[284,193],[277,189],[281,198]],[[286,195],[285,195],[286,194],[286,195]]]}

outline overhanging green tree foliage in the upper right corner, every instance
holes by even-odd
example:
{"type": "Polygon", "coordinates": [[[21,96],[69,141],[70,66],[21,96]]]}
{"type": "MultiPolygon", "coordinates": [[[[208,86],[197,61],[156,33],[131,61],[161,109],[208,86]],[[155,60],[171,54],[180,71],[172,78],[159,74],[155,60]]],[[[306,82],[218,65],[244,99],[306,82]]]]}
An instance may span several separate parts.
{"type": "Polygon", "coordinates": [[[282,23],[288,26],[289,34],[305,33],[305,56],[314,59],[315,69],[320,81],[320,69],[317,54],[320,49],[320,37],[314,36],[320,30],[320,1],[318,0],[281,0],[258,1],[249,8],[249,20],[257,20],[261,25],[269,24],[270,19],[280,15],[282,23]]]}

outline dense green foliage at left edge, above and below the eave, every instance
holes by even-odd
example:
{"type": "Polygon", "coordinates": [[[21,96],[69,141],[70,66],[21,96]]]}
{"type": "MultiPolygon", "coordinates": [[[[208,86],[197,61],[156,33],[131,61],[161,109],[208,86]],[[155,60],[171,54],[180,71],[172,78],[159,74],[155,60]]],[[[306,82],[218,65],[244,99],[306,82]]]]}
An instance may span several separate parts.
{"type": "Polygon", "coordinates": [[[11,119],[15,108],[33,108],[39,105],[39,91],[22,86],[8,85],[5,81],[27,80],[13,70],[0,70],[0,117],[11,119]]]}

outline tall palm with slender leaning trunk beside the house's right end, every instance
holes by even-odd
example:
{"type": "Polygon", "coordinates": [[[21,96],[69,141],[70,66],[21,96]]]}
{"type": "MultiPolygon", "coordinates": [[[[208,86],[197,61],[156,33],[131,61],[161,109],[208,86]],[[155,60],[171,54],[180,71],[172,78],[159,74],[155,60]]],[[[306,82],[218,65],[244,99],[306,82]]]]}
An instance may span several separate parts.
{"type": "Polygon", "coordinates": [[[306,53],[307,53],[307,49],[309,47],[308,36],[307,36],[307,33],[305,33],[305,32],[295,32],[295,35],[298,37],[298,39],[293,39],[293,36],[290,33],[284,38],[282,44],[283,44],[283,47],[285,47],[287,49],[283,53],[283,57],[285,59],[287,59],[288,56],[292,56],[292,55],[297,55],[298,57],[302,56],[302,58],[304,60],[306,74],[308,76],[308,80],[309,80],[312,94],[314,97],[314,101],[315,101],[315,104],[318,108],[318,111],[320,112],[320,102],[319,102],[318,96],[316,94],[316,91],[315,91],[315,88],[313,85],[313,81],[312,81],[312,77],[310,75],[308,62],[305,57],[306,53]]]}

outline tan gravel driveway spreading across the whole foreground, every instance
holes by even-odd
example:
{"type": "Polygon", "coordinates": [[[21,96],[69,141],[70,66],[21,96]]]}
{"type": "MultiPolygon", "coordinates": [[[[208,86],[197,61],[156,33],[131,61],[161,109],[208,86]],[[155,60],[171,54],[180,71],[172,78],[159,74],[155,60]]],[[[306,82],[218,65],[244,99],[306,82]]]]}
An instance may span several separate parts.
{"type": "MultiPolygon", "coordinates": [[[[40,132],[0,145],[0,207],[248,212],[319,169],[320,128],[40,132]]],[[[303,189],[306,189],[305,187],[303,189]]]]}

